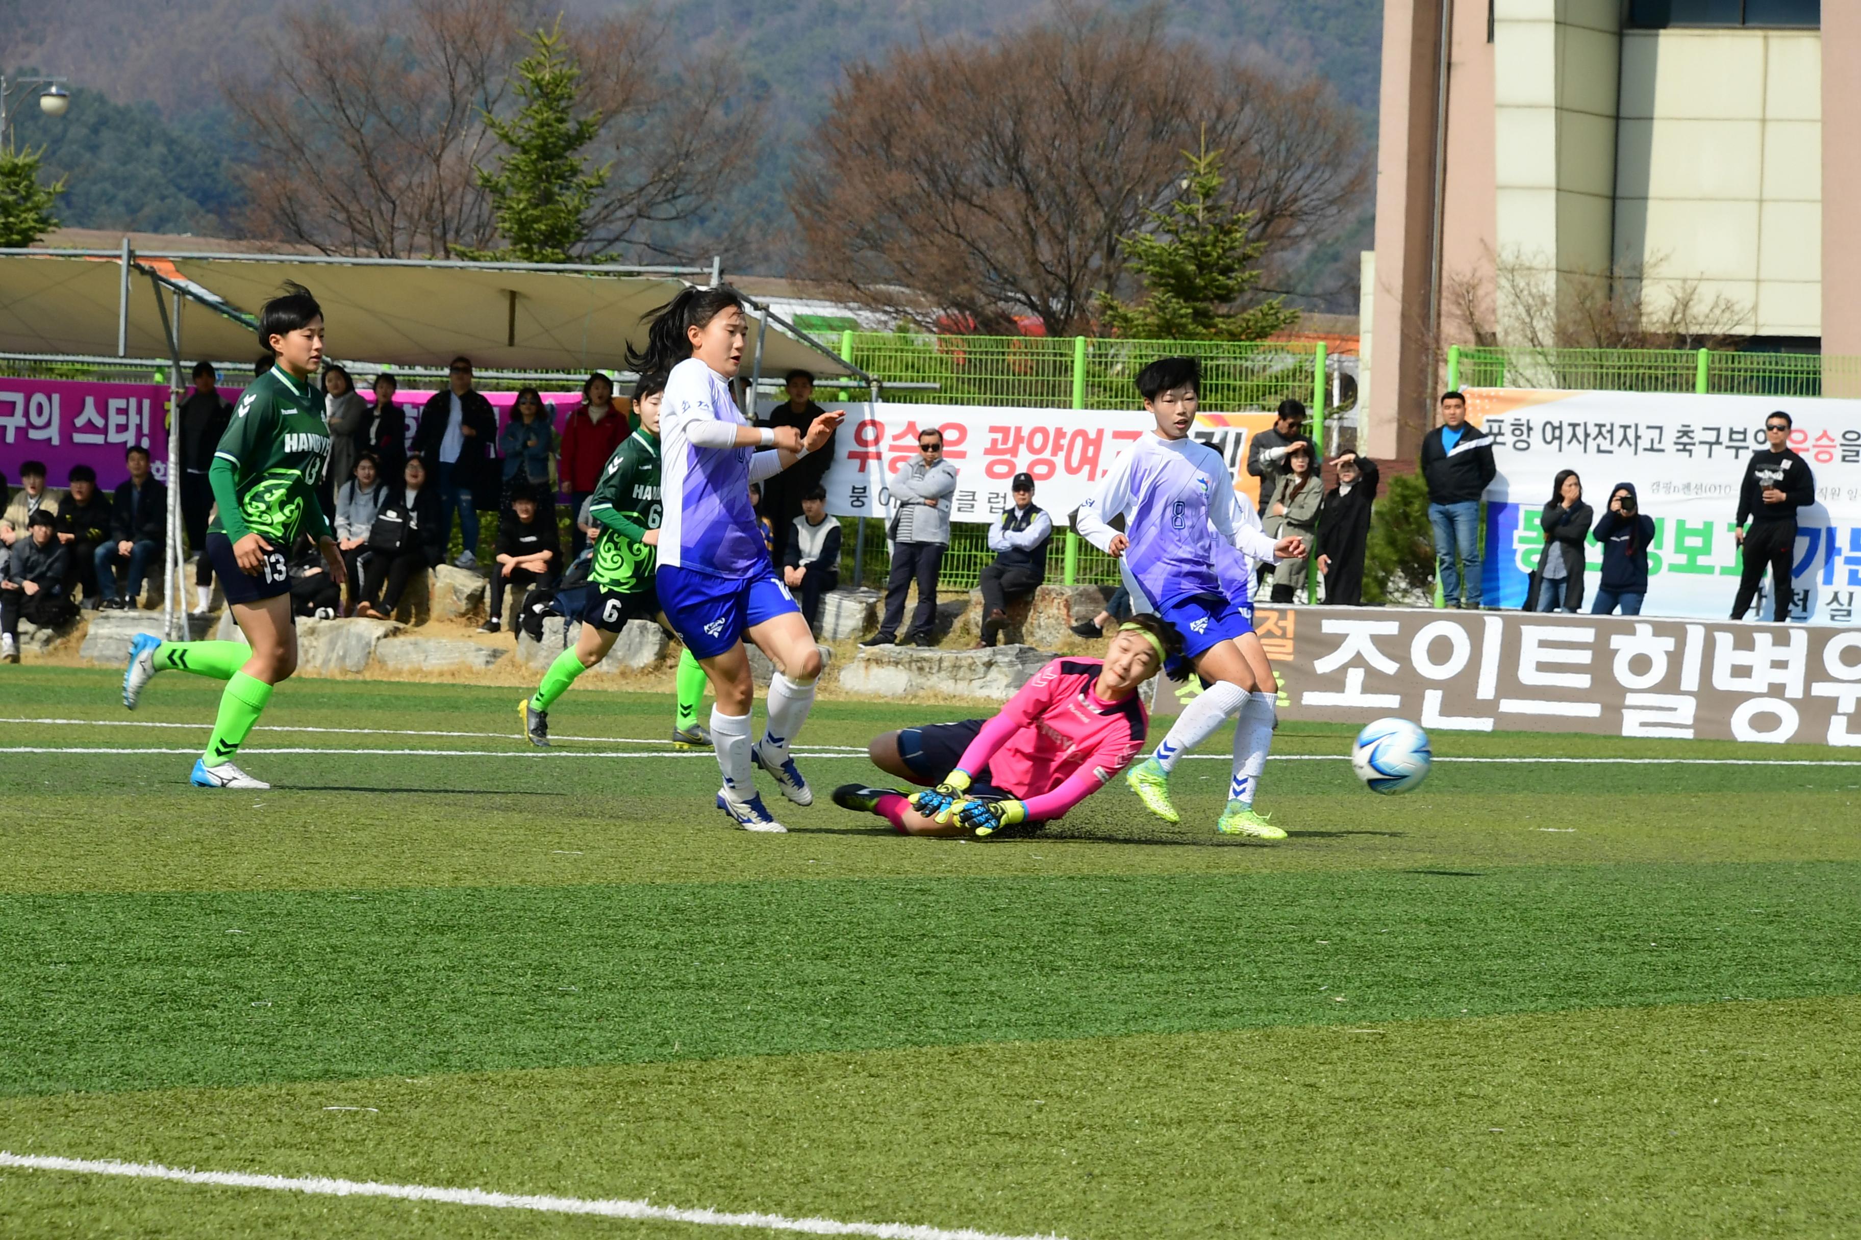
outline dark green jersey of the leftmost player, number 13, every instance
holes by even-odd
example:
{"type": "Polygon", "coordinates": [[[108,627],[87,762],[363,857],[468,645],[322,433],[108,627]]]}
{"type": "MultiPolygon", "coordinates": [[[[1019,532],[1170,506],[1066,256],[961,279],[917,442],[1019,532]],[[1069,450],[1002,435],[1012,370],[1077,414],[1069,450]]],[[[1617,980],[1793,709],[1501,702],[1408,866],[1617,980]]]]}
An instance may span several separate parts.
{"type": "Polygon", "coordinates": [[[329,535],[316,485],[329,467],[322,392],[272,366],[251,381],[207,470],[218,511],[208,534],[259,534],[288,552],[298,534],[329,535]]]}

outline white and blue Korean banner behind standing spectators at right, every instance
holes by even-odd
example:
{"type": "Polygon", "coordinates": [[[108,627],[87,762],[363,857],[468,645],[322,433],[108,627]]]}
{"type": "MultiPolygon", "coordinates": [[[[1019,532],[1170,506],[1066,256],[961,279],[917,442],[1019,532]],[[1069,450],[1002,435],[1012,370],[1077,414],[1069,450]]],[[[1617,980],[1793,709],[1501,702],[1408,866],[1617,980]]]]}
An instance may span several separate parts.
{"type": "MultiPolygon", "coordinates": [[[[1548,392],[1474,389],[1468,416],[1494,439],[1498,476],[1487,491],[1485,600],[1517,608],[1545,535],[1539,513],[1552,480],[1574,468],[1600,519],[1610,491],[1634,483],[1654,519],[1643,613],[1725,617],[1744,556],[1733,541],[1738,485],[1764,446],[1764,415],[1794,420],[1790,448],[1816,480],[1816,504],[1798,511],[1790,617],[1855,623],[1861,595],[1861,400],[1688,396],[1673,392],[1548,392]]],[[[1595,595],[1602,548],[1587,541],[1595,595]]],[[[1759,615],[1772,615],[1766,578],[1759,615]]]]}

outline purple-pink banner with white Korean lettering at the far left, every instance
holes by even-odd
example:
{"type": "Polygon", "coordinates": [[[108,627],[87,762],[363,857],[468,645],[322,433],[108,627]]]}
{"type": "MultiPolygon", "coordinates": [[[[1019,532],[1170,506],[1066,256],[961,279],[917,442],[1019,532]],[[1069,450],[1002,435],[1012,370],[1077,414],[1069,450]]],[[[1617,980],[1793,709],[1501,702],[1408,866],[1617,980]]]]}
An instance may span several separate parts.
{"type": "Polygon", "coordinates": [[[97,470],[97,485],[128,481],[123,452],[149,450],[154,476],[167,480],[167,389],[154,383],[78,383],[0,377],[0,472],[19,485],[24,461],[43,461],[45,480],[63,487],[73,465],[97,470]]]}

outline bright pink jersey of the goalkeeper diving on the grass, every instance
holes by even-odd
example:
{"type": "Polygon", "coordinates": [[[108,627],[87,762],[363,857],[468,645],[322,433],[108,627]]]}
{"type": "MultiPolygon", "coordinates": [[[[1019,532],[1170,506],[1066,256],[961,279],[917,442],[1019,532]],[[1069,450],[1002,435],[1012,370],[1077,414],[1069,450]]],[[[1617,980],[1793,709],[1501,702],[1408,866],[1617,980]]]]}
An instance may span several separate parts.
{"type": "Polygon", "coordinates": [[[1027,818],[1059,818],[1122,772],[1145,745],[1150,716],[1137,693],[1102,701],[1100,658],[1055,658],[983,725],[962,770],[1027,803],[1027,818]]]}

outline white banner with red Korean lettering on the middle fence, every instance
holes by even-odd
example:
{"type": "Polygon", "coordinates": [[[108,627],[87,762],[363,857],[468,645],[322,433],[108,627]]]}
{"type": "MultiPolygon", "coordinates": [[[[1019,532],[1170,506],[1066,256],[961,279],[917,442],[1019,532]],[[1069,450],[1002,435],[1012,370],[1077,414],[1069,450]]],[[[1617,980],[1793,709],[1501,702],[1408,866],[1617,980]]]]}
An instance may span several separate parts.
{"type": "MultiPolygon", "coordinates": [[[[981,405],[832,405],[847,411],[826,472],[836,517],[884,517],[888,480],[917,457],[917,431],[944,433],[944,459],[957,467],[951,521],[992,522],[1012,504],[1014,474],[1031,474],[1035,502],[1064,522],[1118,454],[1156,426],[1143,409],[994,409],[981,405]]],[[[1247,442],[1273,426],[1271,413],[1215,413],[1197,418],[1193,439],[1215,446],[1252,502],[1258,480],[1245,470],[1247,442]]]]}

